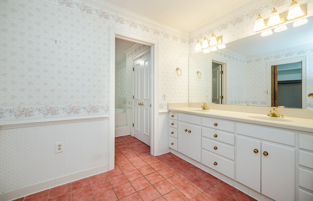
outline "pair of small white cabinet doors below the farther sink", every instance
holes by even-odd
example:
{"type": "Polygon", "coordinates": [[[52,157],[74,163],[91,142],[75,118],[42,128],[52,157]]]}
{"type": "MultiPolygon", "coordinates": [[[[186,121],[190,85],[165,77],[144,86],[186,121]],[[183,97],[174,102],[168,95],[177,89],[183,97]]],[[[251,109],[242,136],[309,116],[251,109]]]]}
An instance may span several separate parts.
{"type": "Polygon", "coordinates": [[[178,151],[193,160],[201,161],[201,127],[179,121],[178,151]]]}

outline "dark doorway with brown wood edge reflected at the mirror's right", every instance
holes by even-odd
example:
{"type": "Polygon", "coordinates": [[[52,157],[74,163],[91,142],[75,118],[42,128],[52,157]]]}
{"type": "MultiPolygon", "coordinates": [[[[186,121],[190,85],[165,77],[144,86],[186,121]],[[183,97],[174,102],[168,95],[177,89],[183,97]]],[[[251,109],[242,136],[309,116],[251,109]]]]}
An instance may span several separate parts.
{"type": "Polygon", "coordinates": [[[271,106],[302,108],[302,62],[271,66],[271,106]]]}

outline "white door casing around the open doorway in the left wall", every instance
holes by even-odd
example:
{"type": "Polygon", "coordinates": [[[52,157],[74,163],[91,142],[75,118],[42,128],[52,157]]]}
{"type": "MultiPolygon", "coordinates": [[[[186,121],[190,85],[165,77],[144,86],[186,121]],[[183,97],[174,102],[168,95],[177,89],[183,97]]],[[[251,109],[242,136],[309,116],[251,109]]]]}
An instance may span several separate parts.
{"type": "Polygon", "coordinates": [[[138,34],[131,33],[129,31],[121,30],[110,26],[110,91],[109,91],[109,170],[114,169],[114,131],[115,131],[115,118],[114,118],[114,102],[115,102],[115,37],[123,38],[125,40],[136,41],[141,44],[152,45],[151,46],[151,64],[152,64],[152,135],[150,151],[153,156],[158,155],[158,102],[157,102],[157,52],[158,41],[139,36],[138,34]],[[111,104],[112,103],[112,104],[111,104]]]}

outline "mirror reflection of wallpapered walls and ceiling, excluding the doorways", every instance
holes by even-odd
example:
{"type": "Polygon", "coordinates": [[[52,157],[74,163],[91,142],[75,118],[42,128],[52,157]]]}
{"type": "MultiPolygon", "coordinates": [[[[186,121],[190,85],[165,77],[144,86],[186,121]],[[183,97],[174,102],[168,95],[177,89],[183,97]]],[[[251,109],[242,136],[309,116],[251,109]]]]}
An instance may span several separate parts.
{"type": "MultiPolygon", "coordinates": [[[[211,96],[210,72],[212,60],[216,60],[226,64],[226,104],[270,106],[271,65],[302,61],[302,92],[305,97],[302,107],[313,109],[313,99],[307,98],[308,94],[313,93],[313,17],[308,20],[309,23],[299,27],[288,24],[288,30],[268,37],[255,34],[227,43],[224,50],[190,55],[189,101],[205,101],[203,97],[206,93],[209,93],[208,97],[211,96]],[[195,58],[207,60],[207,63],[202,62],[200,66],[197,64],[200,61],[195,58]],[[196,82],[191,77],[192,72],[200,67],[202,71],[209,69],[207,78],[210,79],[207,83],[201,80],[201,85],[200,81],[196,82]]],[[[207,102],[211,102],[211,99],[207,99],[207,102]]]]}

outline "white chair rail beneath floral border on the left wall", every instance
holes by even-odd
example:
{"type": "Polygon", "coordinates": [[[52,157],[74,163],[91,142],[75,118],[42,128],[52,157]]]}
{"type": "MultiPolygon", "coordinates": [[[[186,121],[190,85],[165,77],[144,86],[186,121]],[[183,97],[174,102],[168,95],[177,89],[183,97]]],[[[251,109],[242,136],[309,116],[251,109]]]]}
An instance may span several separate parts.
{"type": "Polygon", "coordinates": [[[33,126],[46,126],[56,125],[63,123],[78,123],[87,121],[103,121],[109,120],[108,115],[97,115],[88,117],[70,117],[70,118],[57,118],[57,119],[39,119],[39,120],[24,120],[24,121],[4,121],[0,122],[0,130],[14,129],[14,128],[25,128],[33,126]]]}

